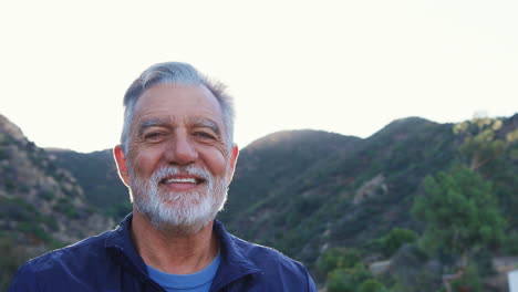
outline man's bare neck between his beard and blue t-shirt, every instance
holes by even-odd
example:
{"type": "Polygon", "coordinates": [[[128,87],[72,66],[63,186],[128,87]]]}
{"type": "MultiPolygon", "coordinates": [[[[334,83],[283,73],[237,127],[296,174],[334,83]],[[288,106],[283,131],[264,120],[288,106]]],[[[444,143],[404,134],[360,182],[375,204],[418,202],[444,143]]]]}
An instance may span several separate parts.
{"type": "Polygon", "coordinates": [[[147,217],[134,210],[132,238],[147,265],[166,273],[189,274],[209,265],[218,253],[213,225],[214,221],[210,221],[194,234],[168,234],[153,227],[147,217]]]}

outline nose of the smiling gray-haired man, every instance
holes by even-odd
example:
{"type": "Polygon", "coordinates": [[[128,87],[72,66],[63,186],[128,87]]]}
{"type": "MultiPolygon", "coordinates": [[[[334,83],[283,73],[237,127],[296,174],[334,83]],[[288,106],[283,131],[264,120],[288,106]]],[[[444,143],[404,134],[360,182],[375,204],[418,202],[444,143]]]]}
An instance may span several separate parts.
{"type": "Polygon", "coordinates": [[[164,155],[167,163],[174,165],[188,165],[198,158],[194,142],[185,133],[174,135],[164,155]]]}

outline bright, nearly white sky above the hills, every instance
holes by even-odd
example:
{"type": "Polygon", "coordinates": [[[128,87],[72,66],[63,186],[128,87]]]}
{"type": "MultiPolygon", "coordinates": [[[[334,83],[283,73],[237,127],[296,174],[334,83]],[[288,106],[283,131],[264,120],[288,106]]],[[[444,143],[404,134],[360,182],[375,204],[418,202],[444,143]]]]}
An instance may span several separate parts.
{"type": "Polygon", "coordinates": [[[0,114],[40,147],[118,143],[122,98],[182,61],[228,85],[235,140],[369,137],[518,112],[518,1],[0,1],[0,114]]]}

